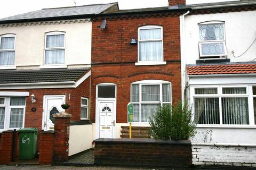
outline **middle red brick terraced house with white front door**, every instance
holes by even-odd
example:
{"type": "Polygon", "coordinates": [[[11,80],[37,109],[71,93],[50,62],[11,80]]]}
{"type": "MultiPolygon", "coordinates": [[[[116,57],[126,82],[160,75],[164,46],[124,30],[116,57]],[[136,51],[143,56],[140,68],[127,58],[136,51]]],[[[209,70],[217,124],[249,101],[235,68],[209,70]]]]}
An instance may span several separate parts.
{"type": "Polygon", "coordinates": [[[180,20],[185,1],[170,7],[119,10],[92,22],[93,139],[121,138],[127,105],[132,126],[149,127],[159,104],[181,100],[180,20]],[[183,5],[181,5],[183,4],[183,5]],[[107,23],[100,29],[101,23],[107,23]]]}

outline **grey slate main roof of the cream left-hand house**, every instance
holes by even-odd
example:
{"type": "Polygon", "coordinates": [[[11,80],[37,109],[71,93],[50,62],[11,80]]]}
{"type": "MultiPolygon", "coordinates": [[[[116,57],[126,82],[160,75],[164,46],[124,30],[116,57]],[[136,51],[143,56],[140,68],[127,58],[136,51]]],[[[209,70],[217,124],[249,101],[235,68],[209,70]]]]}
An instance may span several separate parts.
{"type": "Polygon", "coordinates": [[[117,3],[109,4],[94,4],[73,7],[59,7],[59,8],[45,8],[38,11],[23,13],[19,15],[10,16],[0,19],[0,21],[8,20],[26,20],[26,19],[39,19],[39,18],[53,18],[59,16],[72,16],[72,15],[86,15],[86,14],[99,14],[107,8],[116,5],[117,3]]]}

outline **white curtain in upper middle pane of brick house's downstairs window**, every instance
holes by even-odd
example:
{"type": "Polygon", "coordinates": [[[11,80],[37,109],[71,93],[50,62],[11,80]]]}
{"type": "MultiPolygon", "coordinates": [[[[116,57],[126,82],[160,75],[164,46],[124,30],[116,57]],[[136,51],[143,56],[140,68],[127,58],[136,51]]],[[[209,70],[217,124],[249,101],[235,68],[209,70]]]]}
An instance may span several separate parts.
{"type": "Polygon", "coordinates": [[[160,101],[159,85],[142,85],[142,101],[160,101]]]}

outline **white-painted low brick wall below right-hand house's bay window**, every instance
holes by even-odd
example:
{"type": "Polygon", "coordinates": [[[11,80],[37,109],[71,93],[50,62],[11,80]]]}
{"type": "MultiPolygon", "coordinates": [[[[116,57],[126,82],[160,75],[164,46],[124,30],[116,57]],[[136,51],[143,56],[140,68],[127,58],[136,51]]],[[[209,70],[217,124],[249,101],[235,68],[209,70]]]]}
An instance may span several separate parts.
{"type": "Polygon", "coordinates": [[[256,167],[256,145],[193,143],[194,165],[256,167]]]}

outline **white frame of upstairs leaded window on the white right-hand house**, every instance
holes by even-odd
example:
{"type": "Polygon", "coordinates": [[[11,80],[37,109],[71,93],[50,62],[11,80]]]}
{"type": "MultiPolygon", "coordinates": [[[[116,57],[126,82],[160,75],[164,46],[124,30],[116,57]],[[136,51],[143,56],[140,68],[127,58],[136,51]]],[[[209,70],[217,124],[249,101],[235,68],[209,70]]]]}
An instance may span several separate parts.
{"type": "MultiPolygon", "coordinates": [[[[198,33],[199,33],[200,25],[212,25],[212,24],[223,24],[223,34],[224,34],[223,40],[200,40],[199,35],[198,35],[199,58],[201,60],[205,60],[205,59],[207,60],[207,58],[213,59],[212,57],[218,57],[218,56],[227,56],[226,32],[225,32],[225,22],[224,21],[207,21],[207,22],[198,23],[198,33]],[[202,48],[201,48],[201,45],[203,45],[203,44],[223,44],[225,54],[203,55],[202,48]],[[207,58],[201,58],[201,57],[207,57],[207,58]]],[[[217,59],[219,59],[219,58],[217,58],[217,59]]]]}

